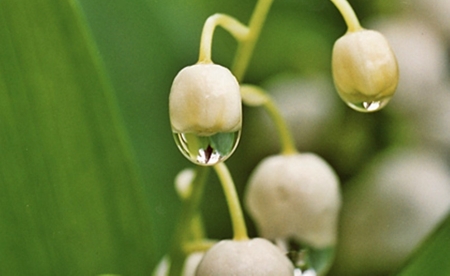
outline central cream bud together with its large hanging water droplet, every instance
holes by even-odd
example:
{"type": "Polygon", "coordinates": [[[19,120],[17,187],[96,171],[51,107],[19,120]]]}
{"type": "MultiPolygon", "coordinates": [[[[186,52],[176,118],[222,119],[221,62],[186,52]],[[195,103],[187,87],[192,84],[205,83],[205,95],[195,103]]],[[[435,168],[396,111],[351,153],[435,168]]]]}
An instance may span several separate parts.
{"type": "Polygon", "coordinates": [[[190,161],[210,166],[236,149],[242,125],[239,83],[225,67],[197,63],[175,77],[169,96],[175,142],[190,161]]]}

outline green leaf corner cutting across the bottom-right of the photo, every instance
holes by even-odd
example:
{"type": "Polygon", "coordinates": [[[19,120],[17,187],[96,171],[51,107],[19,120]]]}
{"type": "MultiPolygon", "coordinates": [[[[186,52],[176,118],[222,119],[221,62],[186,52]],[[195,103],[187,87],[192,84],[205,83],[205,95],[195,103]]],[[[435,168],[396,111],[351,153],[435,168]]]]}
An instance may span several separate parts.
{"type": "Polygon", "coordinates": [[[450,215],[418,248],[399,276],[450,275],[450,215]]]}

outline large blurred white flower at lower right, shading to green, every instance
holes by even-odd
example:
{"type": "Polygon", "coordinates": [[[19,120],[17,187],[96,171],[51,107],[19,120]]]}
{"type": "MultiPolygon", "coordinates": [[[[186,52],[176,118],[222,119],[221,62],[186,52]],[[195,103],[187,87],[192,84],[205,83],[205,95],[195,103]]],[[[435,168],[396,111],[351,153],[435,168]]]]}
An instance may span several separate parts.
{"type": "Polygon", "coordinates": [[[344,191],[336,275],[392,272],[450,210],[450,173],[439,155],[396,150],[373,162],[344,191]]]}

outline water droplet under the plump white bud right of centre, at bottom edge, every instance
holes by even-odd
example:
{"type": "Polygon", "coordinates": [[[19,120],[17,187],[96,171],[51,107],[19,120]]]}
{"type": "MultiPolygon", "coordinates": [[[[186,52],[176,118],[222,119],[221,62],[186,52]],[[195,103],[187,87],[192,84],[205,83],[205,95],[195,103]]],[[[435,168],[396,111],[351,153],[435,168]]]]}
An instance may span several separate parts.
{"type": "Polygon", "coordinates": [[[295,247],[296,250],[289,252],[289,258],[301,270],[300,275],[325,275],[328,272],[334,260],[334,246],[316,249],[297,244],[295,247]]]}

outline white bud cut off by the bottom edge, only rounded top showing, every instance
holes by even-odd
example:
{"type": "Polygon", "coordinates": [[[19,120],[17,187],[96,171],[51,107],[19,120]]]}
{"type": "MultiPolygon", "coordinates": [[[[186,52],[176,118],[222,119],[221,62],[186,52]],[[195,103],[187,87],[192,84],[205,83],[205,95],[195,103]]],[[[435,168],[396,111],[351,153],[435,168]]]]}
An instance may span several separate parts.
{"type": "Polygon", "coordinates": [[[197,268],[197,276],[292,276],[294,266],[271,242],[256,238],[223,240],[211,247],[197,268]]]}

